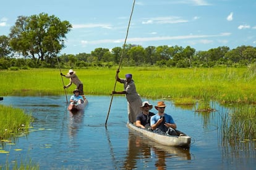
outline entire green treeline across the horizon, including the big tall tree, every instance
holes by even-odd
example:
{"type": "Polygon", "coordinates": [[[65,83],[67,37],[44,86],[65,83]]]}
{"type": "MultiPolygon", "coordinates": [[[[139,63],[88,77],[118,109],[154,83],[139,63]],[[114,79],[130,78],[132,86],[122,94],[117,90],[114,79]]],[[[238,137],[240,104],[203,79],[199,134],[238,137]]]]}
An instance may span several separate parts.
{"type": "Polygon", "coordinates": [[[126,44],[113,49],[96,48],[90,54],[62,54],[66,34],[72,25],[54,15],[41,13],[19,16],[9,36],[0,36],[0,69],[113,67],[247,67],[256,62],[256,47],[221,46],[196,51],[187,46],[148,46],[126,44]],[[58,60],[57,60],[58,59],[58,60]]]}

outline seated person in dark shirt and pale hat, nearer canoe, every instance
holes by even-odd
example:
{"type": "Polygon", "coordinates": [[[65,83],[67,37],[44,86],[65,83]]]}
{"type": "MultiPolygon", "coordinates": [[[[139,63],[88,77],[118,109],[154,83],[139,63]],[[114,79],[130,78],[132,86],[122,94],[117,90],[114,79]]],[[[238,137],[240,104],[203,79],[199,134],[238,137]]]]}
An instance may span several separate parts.
{"type": "Polygon", "coordinates": [[[155,115],[155,113],[150,112],[153,105],[151,105],[148,101],[145,101],[140,106],[142,112],[136,118],[136,126],[147,128],[150,127],[150,118],[155,115]]]}

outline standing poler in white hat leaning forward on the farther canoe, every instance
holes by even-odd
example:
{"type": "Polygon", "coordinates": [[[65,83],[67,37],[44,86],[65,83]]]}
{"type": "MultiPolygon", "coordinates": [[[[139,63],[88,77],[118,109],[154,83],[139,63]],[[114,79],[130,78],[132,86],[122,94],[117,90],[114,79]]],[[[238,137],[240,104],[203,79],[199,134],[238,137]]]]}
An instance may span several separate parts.
{"type": "Polygon", "coordinates": [[[72,69],[69,70],[69,73],[67,73],[67,75],[63,75],[61,73],[61,76],[64,76],[66,78],[69,78],[69,84],[67,84],[66,86],[64,86],[65,88],[68,88],[71,86],[72,83],[74,83],[77,86],[77,89],[79,89],[79,94],[82,95],[83,100],[85,100],[85,95],[83,94],[83,83],[80,81],[80,79],[78,78],[78,76],[75,74],[75,71],[73,71],[72,69]]]}

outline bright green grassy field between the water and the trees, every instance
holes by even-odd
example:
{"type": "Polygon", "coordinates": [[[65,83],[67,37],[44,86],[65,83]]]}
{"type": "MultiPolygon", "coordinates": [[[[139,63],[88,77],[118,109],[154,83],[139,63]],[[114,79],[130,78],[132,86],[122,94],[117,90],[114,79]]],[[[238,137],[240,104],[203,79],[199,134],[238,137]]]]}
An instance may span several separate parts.
{"type": "MultiPolygon", "coordinates": [[[[85,94],[109,95],[114,89],[116,69],[74,69],[83,82],[85,94]]],[[[66,74],[67,69],[62,70],[66,74]]],[[[60,95],[69,79],[59,75],[59,69],[0,71],[0,95],[60,95]]],[[[150,68],[123,67],[119,77],[132,73],[137,91],[151,99],[202,99],[227,103],[255,103],[255,75],[248,68],[150,68]]],[[[67,89],[72,94],[75,86],[67,89]]],[[[122,84],[116,84],[122,91],[122,84]]]]}

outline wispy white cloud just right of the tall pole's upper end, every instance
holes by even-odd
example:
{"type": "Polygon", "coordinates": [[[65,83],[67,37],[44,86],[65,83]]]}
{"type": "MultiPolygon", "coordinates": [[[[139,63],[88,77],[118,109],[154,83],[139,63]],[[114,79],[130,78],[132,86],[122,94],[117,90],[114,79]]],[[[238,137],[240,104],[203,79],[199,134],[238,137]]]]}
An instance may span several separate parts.
{"type": "Polygon", "coordinates": [[[184,20],[181,17],[155,17],[150,18],[145,22],[142,22],[142,24],[152,24],[152,23],[159,23],[159,24],[165,24],[165,23],[182,23],[182,22],[188,22],[188,20],[184,20]]]}

